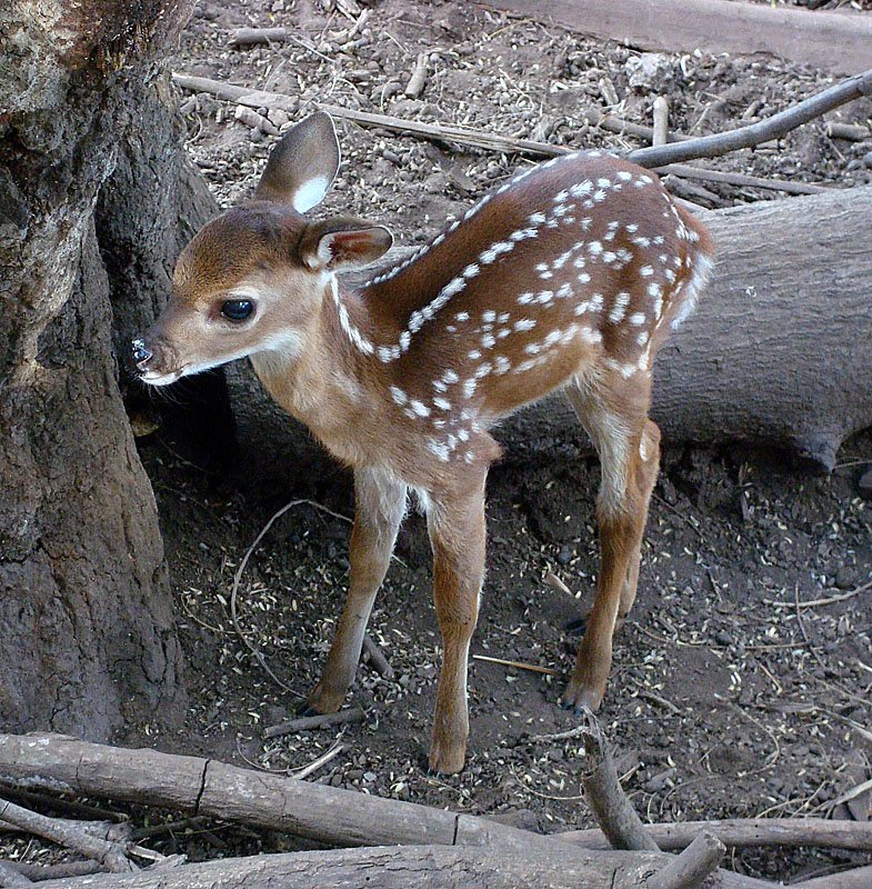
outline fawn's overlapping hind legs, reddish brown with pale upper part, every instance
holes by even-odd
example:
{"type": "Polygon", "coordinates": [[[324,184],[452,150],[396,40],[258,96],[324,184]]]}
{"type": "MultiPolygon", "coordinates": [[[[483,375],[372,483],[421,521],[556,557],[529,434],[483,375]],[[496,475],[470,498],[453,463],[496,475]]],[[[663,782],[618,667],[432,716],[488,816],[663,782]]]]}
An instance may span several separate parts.
{"type": "Polygon", "coordinates": [[[600,572],[563,706],[595,710],[605,693],[615,621],[632,607],[648,502],[656,478],[659,430],[648,419],[651,380],[628,384],[620,374],[573,382],[567,394],[600,455],[597,499],[600,572]]]}

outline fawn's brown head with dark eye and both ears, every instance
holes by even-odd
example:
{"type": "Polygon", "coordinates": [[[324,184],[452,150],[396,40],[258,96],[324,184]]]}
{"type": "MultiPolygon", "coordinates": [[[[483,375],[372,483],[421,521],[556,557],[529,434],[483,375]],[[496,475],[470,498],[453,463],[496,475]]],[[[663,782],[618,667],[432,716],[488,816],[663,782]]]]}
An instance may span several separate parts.
{"type": "Polygon", "coordinates": [[[176,264],[169,302],[133,340],[144,382],[166,386],[257,352],[300,353],[330,276],[373,262],[393,240],[362,220],[304,218],[339,160],[333,121],[311,114],[275,146],[253,197],[197,233],[176,264]]]}

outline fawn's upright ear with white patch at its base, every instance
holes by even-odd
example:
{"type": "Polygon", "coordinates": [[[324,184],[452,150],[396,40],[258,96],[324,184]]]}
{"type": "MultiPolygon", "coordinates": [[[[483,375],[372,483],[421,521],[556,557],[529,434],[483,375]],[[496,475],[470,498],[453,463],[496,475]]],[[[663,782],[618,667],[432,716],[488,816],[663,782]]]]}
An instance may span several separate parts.
{"type": "Polygon", "coordinates": [[[272,149],[254,197],[290,203],[298,213],[321,203],[339,169],[339,140],[330,114],[315,111],[272,149]]]}

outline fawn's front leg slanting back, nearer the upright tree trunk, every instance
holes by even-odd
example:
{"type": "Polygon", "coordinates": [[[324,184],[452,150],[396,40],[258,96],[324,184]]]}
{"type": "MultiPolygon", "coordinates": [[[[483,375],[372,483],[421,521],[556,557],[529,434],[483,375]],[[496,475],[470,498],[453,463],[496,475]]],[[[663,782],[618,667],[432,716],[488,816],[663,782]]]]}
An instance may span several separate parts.
{"type": "Polygon", "coordinates": [[[367,621],[405,513],[405,485],[384,472],[359,469],[354,472],[354,501],[348,598],[321,681],[309,696],[310,710],[319,713],[339,710],[354,681],[367,621]]]}

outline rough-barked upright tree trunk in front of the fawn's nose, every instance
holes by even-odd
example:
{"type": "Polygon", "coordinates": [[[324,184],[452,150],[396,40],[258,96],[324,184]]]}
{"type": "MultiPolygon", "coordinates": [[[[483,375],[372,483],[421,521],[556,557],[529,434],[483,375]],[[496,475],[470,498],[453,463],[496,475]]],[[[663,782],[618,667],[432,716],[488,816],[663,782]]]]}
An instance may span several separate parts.
{"type": "Polygon", "coordinates": [[[36,12],[13,0],[0,11],[7,728],[104,738],[126,720],[183,712],[157,510],[117,383],[110,300],[126,317],[142,300],[148,317],[177,246],[211,212],[193,197],[177,124],[159,122],[167,87],[154,81],[191,6],[57,0],[36,12]],[[147,130],[136,122],[143,103],[147,130]],[[159,156],[162,182],[148,182],[159,156]],[[179,229],[180,212],[189,227],[179,229]],[[154,237],[140,242],[137,222],[154,237]]]}

